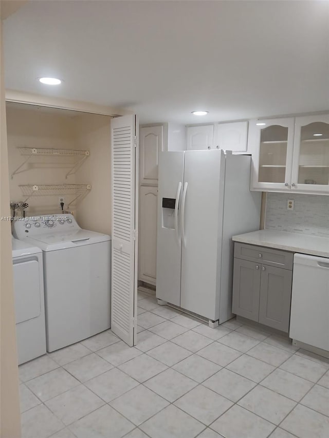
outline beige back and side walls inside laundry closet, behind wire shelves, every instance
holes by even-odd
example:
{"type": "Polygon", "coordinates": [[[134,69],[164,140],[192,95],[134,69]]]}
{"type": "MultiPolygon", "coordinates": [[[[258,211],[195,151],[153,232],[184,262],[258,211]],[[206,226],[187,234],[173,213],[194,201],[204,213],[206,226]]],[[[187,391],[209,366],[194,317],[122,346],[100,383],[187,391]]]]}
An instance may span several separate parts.
{"type": "MultiPolygon", "coordinates": [[[[9,174],[25,160],[19,147],[89,150],[90,156],[73,175],[65,175],[75,158],[39,156],[29,159],[10,179],[10,200],[25,201],[20,184],[90,184],[92,190],[69,210],[78,223],[88,230],[111,233],[111,117],[7,103],[9,174]]],[[[32,196],[27,215],[61,213],[59,197],[65,206],[76,195],[58,193],[53,196],[32,196]]],[[[21,214],[21,211],[18,213],[21,214]]]]}

